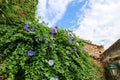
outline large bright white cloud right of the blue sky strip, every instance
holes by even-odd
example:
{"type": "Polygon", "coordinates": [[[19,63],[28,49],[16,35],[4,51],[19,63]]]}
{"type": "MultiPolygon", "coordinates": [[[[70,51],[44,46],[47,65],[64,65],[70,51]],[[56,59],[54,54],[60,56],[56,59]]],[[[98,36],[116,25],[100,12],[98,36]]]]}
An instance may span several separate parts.
{"type": "Polygon", "coordinates": [[[120,38],[120,1],[89,0],[84,18],[75,33],[83,39],[108,48],[120,38]]]}

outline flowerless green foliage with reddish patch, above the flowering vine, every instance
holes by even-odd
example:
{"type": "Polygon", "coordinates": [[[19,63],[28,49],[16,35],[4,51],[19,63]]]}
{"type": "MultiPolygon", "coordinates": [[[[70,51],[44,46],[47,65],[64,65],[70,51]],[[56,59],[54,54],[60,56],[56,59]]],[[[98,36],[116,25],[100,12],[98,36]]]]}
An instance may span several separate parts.
{"type": "Polygon", "coordinates": [[[0,0],[0,24],[16,24],[35,19],[38,0],[0,0]]]}

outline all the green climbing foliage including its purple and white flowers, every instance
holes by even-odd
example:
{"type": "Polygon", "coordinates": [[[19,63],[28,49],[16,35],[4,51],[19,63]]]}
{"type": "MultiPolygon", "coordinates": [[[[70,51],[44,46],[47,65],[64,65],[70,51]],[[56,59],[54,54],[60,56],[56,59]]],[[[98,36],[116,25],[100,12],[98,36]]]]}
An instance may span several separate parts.
{"type": "Polygon", "coordinates": [[[83,41],[71,31],[38,23],[36,4],[0,0],[0,80],[96,80],[97,66],[83,41]]]}

